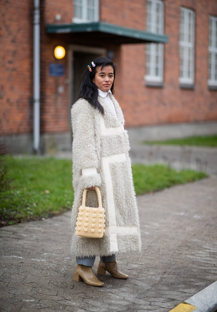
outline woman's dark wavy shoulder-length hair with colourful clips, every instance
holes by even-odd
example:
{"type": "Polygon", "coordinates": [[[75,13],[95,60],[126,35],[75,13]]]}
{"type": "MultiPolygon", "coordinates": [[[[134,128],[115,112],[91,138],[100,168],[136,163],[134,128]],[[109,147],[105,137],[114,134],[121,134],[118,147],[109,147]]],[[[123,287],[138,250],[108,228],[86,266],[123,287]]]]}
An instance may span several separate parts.
{"type": "MultiPolygon", "coordinates": [[[[93,62],[96,66],[93,67],[90,62],[90,67],[92,69],[92,72],[90,72],[89,69],[86,70],[81,80],[80,94],[77,100],[80,98],[87,100],[90,103],[90,105],[98,109],[100,113],[104,114],[104,108],[97,100],[98,95],[99,95],[98,88],[92,80],[95,78],[97,67],[101,67],[101,70],[102,70],[107,65],[110,65],[113,67],[114,78],[115,78],[115,66],[113,64],[113,61],[109,60],[106,57],[98,57],[93,62]]],[[[112,94],[114,94],[114,81],[110,90],[112,94]]]]}

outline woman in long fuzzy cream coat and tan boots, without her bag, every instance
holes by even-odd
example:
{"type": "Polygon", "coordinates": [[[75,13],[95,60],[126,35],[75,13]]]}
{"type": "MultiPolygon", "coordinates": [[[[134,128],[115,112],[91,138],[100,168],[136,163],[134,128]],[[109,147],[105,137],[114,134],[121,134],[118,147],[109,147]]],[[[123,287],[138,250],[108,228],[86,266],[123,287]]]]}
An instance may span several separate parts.
{"type": "Polygon", "coordinates": [[[92,61],[71,110],[75,191],[72,227],[75,229],[84,188],[89,190],[86,206],[98,207],[95,186],[99,187],[106,215],[103,238],[72,236],[72,254],[77,263],[73,279],[93,286],[104,285],[92,270],[96,255],[100,256],[99,275],[108,271],[126,279],[128,275],[119,271],[115,255],[141,250],[129,139],[122,110],[113,96],[114,78],[111,60],[99,57],[92,61]]]}

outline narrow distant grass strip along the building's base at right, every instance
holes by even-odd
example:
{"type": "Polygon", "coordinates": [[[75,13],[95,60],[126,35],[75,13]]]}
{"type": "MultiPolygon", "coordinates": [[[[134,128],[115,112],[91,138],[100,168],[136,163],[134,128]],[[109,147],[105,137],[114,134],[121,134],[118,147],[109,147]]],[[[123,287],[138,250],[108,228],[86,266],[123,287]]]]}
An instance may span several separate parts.
{"type": "Polygon", "coordinates": [[[164,141],[144,141],[144,144],[164,144],[164,145],[192,145],[217,147],[217,135],[195,136],[182,139],[171,139],[164,141]]]}

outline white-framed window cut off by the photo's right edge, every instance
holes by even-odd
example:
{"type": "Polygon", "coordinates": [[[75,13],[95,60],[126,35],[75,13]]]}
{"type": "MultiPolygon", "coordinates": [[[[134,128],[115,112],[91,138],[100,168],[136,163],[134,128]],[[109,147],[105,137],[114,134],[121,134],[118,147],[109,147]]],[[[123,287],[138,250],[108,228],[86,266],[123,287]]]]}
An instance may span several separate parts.
{"type": "Polygon", "coordinates": [[[217,17],[209,17],[208,85],[217,86],[217,17]]]}

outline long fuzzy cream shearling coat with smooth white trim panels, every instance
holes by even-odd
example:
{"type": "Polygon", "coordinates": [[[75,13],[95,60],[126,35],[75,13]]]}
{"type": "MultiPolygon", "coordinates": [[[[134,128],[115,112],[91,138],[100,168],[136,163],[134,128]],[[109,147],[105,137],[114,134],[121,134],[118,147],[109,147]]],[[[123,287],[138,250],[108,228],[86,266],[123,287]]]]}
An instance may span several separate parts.
{"type": "MultiPolygon", "coordinates": [[[[138,209],[134,192],[129,139],[122,110],[111,96],[116,115],[99,96],[104,115],[84,99],[72,106],[72,254],[77,257],[109,256],[141,250],[138,209]],[[102,195],[106,224],[103,238],[75,235],[83,189],[97,185],[102,195]]],[[[98,207],[96,192],[88,191],[86,205],[98,207]]]]}

